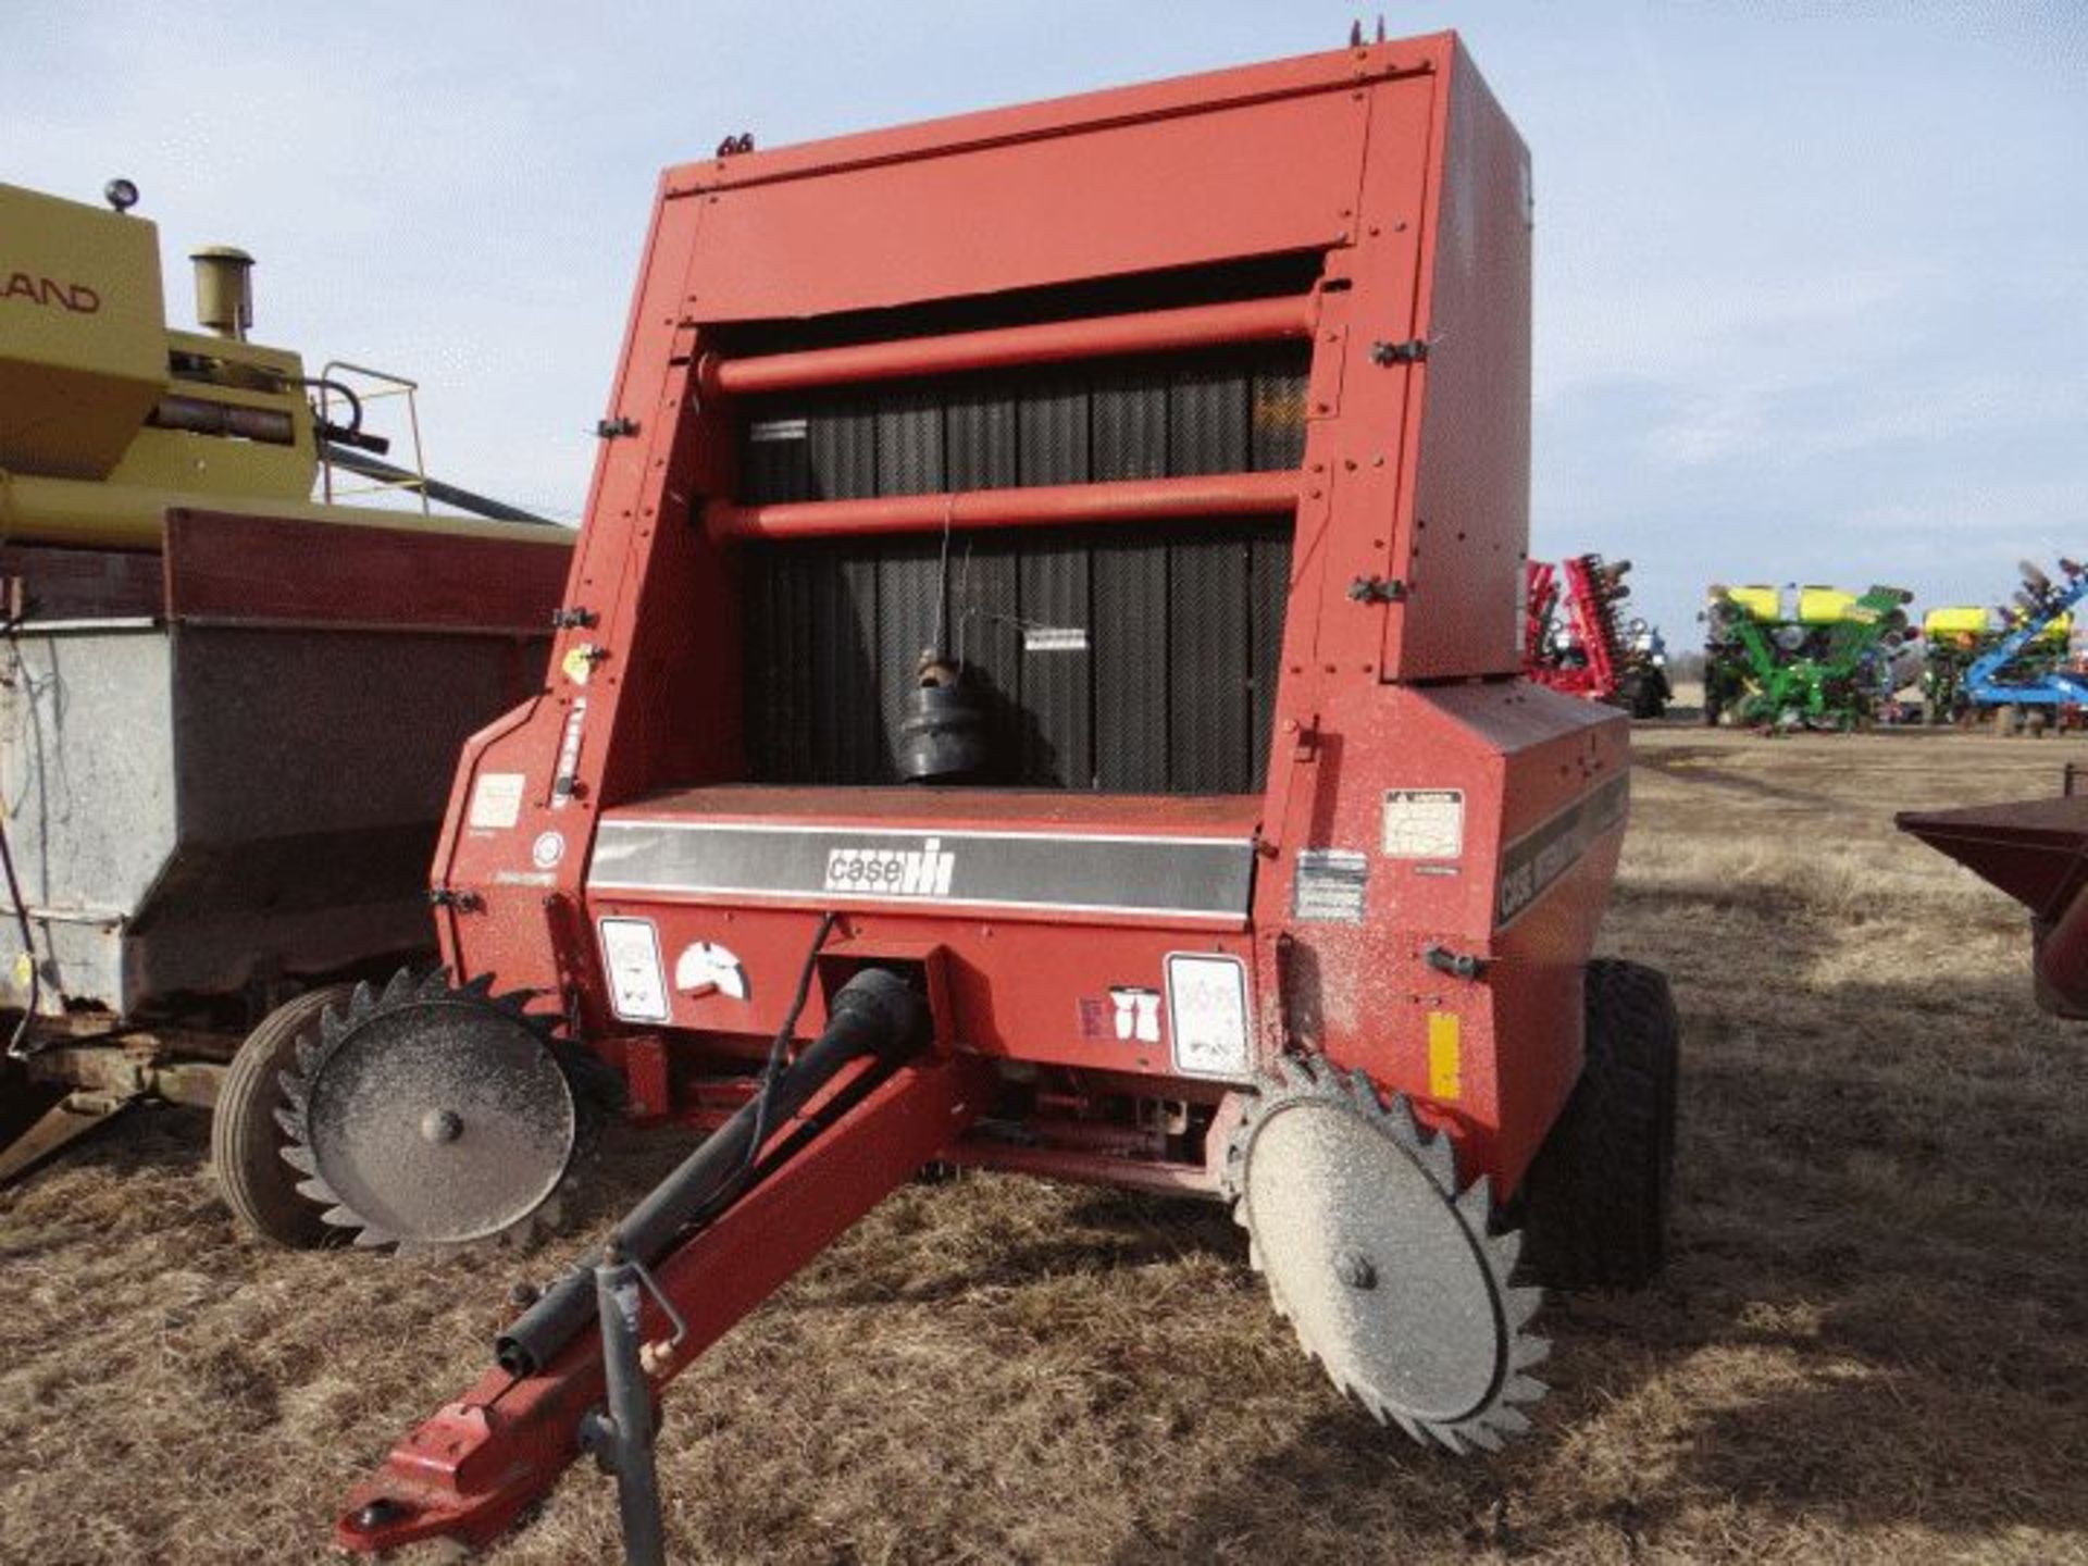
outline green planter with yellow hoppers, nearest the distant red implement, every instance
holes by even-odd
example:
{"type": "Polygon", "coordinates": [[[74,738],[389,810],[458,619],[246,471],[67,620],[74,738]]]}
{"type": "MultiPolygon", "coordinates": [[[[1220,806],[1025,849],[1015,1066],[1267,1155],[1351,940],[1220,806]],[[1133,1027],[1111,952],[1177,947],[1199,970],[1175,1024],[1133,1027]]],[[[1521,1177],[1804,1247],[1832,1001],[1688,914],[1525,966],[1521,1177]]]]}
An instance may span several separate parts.
{"type": "Polygon", "coordinates": [[[1771,733],[1869,727],[1919,677],[1906,603],[1873,587],[1718,587],[1704,608],[1704,722],[1771,733]]]}

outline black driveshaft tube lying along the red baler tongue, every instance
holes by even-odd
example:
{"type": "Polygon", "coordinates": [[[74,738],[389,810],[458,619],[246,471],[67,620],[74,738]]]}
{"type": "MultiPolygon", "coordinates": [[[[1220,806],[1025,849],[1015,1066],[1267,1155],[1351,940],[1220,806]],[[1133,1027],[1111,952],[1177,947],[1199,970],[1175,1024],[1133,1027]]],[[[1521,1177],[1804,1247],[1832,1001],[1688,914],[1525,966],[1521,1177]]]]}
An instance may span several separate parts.
{"type": "MultiPolygon", "coordinates": [[[[756,1128],[787,1123],[852,1061],[875,1057],[896,1065],[927,1036],[927,1002],[912,986],[896,973],[864,969],[835,992],[825,1031],[624,1215],[614,1244],[647,1267],[658,1263],[691,1224],[716,1217],[760,1176],[752,1165],[760,1153],[756,1128]]],[[[509,1324],[493,1355],[507,1374],[532,1376],[593,1322],[595,1276],[576,1267],[509,1324]]]]}

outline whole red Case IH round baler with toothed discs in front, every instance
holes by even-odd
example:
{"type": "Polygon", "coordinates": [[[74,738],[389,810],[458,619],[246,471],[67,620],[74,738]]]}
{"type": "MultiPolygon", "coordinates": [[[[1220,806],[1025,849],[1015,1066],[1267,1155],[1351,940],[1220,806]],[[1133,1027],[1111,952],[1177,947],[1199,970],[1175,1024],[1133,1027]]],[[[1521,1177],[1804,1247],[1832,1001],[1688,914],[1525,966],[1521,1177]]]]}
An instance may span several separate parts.
{"type": "MultiPolygon", "coordinates": [[[[1677,1042],[1589,960],[1627,720],[1518,679],[1528,267],[1453,35],[670,169],[547,689],[464,756],[449,975],[301,1046],[307,1192],[524,1224],[595,1063],[704,1134],[612,1244],[641,1424],[948,1161],[1230,1201],[1380,1420],[1524,1428],[1531,1284],[1660,1259],[1677,1042]]],[[[595,1282],[342,1545],[618,1451],[595,1282]]]]}

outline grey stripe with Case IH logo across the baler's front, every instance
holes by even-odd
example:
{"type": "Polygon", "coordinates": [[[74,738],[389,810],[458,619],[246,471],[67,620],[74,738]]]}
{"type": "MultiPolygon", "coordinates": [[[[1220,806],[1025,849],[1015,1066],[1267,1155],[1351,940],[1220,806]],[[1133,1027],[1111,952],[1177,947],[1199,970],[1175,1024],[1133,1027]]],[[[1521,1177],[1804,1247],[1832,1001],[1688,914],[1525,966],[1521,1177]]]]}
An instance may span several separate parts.
{"type": "Polygon", "coordinates": [[[1247,837],[768,827],[610,818],[591,892],[783,902],[1013,908],[1238,925],[1253,896],[1247,837]]]}

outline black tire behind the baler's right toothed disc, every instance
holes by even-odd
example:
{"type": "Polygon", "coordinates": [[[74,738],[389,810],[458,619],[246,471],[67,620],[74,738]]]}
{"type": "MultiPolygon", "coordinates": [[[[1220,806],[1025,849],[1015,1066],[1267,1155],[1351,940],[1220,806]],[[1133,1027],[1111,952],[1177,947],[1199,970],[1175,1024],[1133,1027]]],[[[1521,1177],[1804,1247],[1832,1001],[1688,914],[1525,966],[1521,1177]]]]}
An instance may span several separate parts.
{"type": "Polygon", "coordinates": [[[1681,1021],[1658,969],[1587,965],[1581,1082],[1518,1192],[1522,1267],[1547,1288],[1643,1288],[1668,1257],[1681,1021]]]}

